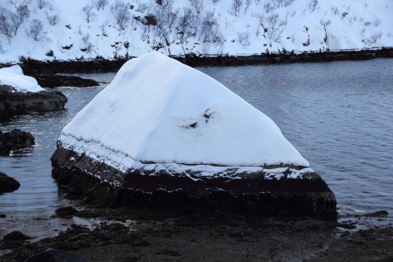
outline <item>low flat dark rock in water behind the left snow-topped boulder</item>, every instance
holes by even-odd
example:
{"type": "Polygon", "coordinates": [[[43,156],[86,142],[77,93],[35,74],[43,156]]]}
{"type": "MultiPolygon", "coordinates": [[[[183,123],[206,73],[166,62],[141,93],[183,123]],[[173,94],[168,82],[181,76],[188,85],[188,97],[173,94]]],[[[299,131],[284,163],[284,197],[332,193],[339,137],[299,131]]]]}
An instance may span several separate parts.
{"type": "Polygon", "coordinates": [[[99,84],[92,79],[79,76],[39,75],[34,76],[41,87],[95,87],[99,84]]]}

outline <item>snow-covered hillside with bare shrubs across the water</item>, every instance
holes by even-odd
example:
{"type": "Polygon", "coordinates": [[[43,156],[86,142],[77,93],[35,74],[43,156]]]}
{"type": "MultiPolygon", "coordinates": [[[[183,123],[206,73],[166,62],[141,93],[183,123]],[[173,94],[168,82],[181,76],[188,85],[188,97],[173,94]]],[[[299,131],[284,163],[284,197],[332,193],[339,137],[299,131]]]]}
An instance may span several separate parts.
{"type": "Polygon", "coordinates": [[[393,0],[1,0],[0,63],[392,47],[392,14],[393,0]]]}

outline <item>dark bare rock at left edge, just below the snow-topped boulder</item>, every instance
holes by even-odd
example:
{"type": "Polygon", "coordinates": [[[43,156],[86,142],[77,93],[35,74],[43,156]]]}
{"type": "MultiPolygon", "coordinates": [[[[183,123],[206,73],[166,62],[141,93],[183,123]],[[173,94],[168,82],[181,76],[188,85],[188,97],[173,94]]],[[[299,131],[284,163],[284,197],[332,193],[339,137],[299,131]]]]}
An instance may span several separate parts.
{"type": "Polygon", "coordinates": [[[34,145],[34,137],[19,129],[11,132],[1,132],[0,130],[0,155],[7,155],[11,150],[25,148],[34,145]]]}

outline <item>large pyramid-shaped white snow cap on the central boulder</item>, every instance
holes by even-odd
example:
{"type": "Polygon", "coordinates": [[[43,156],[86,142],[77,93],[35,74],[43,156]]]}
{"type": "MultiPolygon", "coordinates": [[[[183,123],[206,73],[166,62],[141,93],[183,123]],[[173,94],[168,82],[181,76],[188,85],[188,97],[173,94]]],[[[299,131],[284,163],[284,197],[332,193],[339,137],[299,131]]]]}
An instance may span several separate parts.
{"type": "Polygon", "coordinates": [[[60,142],[129,167],[309,166],[268,116],[213,78],[158,52],[126,62],[64,127],[60,142]]]}

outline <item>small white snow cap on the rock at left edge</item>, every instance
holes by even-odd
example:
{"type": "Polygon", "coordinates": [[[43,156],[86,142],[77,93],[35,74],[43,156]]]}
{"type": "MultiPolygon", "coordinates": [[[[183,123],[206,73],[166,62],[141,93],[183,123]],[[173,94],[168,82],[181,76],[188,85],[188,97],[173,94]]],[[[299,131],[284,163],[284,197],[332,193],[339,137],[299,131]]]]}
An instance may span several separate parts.
{"type": "Polygon", "coordinates": [[[45,89],[33,77],[25,76],[19,65],[0,68],[0,86],[11,86],[20,92],[39,92],[45,89]]]}

